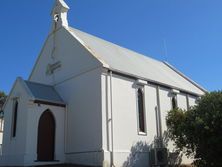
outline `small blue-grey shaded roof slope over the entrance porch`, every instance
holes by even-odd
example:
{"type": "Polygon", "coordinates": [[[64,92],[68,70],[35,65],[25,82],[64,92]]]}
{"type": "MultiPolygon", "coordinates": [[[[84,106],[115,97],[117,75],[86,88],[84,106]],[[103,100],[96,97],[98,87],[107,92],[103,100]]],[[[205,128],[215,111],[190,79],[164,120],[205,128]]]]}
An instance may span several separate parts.
{"type": "Polygon", "coordinates": [[[24,83],[30,90],[35,100],[64,104],[62,98],[59,96],[53,86],[30,81],[24,81],[24,83]]]}

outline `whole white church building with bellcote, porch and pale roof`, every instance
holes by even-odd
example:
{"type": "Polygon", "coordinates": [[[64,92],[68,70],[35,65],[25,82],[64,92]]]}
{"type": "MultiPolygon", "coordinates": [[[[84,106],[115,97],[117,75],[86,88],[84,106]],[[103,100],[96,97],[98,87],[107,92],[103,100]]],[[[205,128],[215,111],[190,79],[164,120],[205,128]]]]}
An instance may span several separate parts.
{"type": "Polygon", "coordinates": [[[56,0],[30,77],[7,98],[0,166],[149,167],[167,111],[206,90],[166,62],[70,27],[68,10],[56,0]]]}

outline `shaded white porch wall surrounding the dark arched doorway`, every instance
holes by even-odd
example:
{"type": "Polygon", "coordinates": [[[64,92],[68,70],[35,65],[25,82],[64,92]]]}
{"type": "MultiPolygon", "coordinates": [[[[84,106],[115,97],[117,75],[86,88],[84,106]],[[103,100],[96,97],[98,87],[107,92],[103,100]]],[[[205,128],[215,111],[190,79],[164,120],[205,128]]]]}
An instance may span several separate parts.
{"type": "Polygon", "coordinates": [[[29,103],[26,132],[27,146],[24,157],[24,165],[26,166],[41,164],[41,162],[35,162],[37,160],[38,125],[41,115],[46,110],[51,111],[55,119],[55,160],[58,160],[59,163],[65,162],[65,108],[29,103]]]}

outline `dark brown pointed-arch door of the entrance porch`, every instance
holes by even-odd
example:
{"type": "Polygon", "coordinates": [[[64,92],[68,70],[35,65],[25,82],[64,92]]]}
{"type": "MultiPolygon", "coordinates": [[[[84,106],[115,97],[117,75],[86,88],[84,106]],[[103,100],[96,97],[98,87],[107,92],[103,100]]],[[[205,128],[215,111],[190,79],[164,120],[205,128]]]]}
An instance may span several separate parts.
{"type": "Polygon", "coordinates": [[[55,120],[52,113],[45,111],[38,126],[37,160],[53,161],[55,151],[55,120]]]}

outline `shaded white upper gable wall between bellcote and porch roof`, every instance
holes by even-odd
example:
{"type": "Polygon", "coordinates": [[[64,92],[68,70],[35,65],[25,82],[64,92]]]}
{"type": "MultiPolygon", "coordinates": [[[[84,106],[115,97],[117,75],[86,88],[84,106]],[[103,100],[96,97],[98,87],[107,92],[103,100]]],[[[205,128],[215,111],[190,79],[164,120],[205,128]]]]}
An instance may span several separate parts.
{"type": "Polygon", "coordinates": [[[55,85],[101,65],[68,30],[62,27],[48,36],[29,80],[55,85]],[[47,75],[48,64],[58,61],[61,62],[61,68],[54,74],[47,75]]]}

